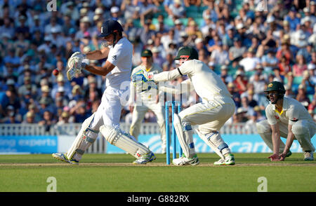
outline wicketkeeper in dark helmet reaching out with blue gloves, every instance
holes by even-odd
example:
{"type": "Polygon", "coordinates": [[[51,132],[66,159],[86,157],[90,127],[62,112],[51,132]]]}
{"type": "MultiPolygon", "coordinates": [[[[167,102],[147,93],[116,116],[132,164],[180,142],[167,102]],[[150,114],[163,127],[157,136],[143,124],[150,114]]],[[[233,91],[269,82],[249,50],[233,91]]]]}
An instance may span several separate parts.
{"type": "Polygon", "coordinates": [[[199,137],[220,156],[220,160],[214,165],[235,165],[235,157],[219,133],[220,128],[234,114],[235,103],[220,76],[198,59],[195,48],[183,47],[175,58],[179,60],[180,65],[177,69],[159,74],[134,74],[132,80],[159,82],[187,75],[189,78],[181,83],[181,88],[187,85],[195,89],[203,100],[180,111],[179,114],[174,114],[173,125],[184,156],[174,159],[173,164],[199,164],[192,137],[192,125],[199,125],[197,129],[199,137]]]}

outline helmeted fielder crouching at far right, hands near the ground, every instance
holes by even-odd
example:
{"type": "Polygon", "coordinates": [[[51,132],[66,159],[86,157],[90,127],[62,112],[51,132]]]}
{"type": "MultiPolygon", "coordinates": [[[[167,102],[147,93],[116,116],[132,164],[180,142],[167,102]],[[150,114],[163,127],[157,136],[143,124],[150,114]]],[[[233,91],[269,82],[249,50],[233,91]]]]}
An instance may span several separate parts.
{"type": "Polygon", "coordinates": [[[310,139],[315,135],[316,124],[301,102],[284,97],[284,85],[272,81],[265,90],[270,104],[265,108],[267,120],[256,123],[259,135],[273,151],[271,161],[284,160],[291,155],[291,145],[297,139],[304,152],[304,160],[314,160],[315,147],[310,139]],[[287,138],[284,144],[280,137],[287,138]]]}

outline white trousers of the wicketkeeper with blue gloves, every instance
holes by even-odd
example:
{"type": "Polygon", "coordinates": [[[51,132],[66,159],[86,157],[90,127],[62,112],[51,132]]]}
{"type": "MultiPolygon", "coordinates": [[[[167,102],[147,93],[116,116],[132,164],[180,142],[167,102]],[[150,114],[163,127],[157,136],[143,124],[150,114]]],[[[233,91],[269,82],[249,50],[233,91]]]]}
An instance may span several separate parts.
{"type": "Polygon", "coordinates": [[[182,123],[199,125],[203,135],[219,131],[235,112],[235,102],[230,97],[219,97],[184,109],[179,116],[182,123]]]}

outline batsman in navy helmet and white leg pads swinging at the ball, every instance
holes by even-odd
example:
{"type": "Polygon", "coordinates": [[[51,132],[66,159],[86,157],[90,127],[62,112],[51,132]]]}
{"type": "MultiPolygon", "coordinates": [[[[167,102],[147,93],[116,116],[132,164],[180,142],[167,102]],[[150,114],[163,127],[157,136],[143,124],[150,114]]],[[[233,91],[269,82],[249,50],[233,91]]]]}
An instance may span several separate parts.
{"type": "Polygon", "coordinates": [[[97,111],[87,118],[81,125],[81,130],[67,153],[53,153],[53,157],[71,164],[78,164],[86,149],[96,141],[98,133],[110,144],[137,159],[134,164],[146,164],[156,157],[147,146],[140,144],[136,139],[119,128],[119,118],[124,99],[124,92],[129,93],[131,82],[132,52],[133,46],[128,39],[122,36],[123,28],[116,20],[105,20],[101,28],[100,37],[107,44],[101,50],[94,50],[86,55],[74,53],[68,60],[67,77],[71,80],[75,74],[86,69],[93,74],[106,77],[106,89],[103,93],[100,106],[97,111]],[[89,60],[101,60],[107,57],[103,67],[96,67],[82,62],[84,58],[89,60]]]}

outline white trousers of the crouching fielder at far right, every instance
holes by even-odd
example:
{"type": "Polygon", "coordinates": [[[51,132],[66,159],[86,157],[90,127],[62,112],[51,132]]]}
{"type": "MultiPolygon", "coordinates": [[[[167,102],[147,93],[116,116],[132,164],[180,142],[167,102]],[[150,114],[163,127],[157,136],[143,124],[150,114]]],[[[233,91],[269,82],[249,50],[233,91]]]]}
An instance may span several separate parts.
{"type": "MultiPolygon", "coordinates": [[[[264,120],[256,123],[256,128],[265,144],[273,151],[272,130],[268,121],[264,120]]],[[[302,151],[315,151],[315,147],[310,141],[315,135],[315,129],[314,123],[309,123],[305,120],[297,121],[292,125],[292,132],[301,145],[302,151]]],[[[281,137],[287,138],[288,129],[286,124],[279,122],[279,133],[281,137]]],[[[281,142],[279,152],[283,152],[284,146],[285,144],[281,142]]]]}

